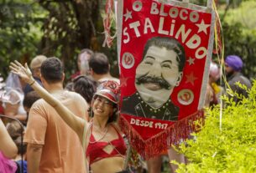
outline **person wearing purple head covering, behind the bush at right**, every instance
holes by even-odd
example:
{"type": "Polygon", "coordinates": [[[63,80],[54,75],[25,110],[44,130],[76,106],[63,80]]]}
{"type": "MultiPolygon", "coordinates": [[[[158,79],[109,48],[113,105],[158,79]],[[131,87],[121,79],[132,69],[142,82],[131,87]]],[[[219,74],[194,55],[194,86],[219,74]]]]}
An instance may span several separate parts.
{"type": "MultiPolygon", "coordinates": [[[[252,88],[252,84],[248,78],[243,76],[241,70],[243,69],[243,61],[237,55],[228,55],[225,59],[225,71],[227,75],[227,81],[232,91],[247,97],[246,90],[241,89],[236,83],[244,84],[248,89],[252,88]]],[[[238,103],[241,99],[234,97],[233,100],[238,103]]]]}

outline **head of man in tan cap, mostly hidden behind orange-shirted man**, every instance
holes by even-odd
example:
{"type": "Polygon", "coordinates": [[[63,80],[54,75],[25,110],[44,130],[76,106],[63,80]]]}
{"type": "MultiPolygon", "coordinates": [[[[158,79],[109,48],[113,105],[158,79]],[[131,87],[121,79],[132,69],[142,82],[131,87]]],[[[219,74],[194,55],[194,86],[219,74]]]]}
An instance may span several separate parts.
{"type": "MultiPolygon", "coordinates": [[[[34,76],[34,79],[42,85],[41,83],[41,79],[40,79],[40,75],[41,75],[41,64],[43,64],[44,60],[47,59],[47,57],[45,57],[44,55],[38,55],[36,57],[34,57],[34,59],[32,59],[31,63],[30,63],[30,69],[32,71],[32,74],[34,76]]],[[[34,89],[32,89],[29,84],[27,84],[24,88],[24,94],[28,94],[30,91],[33,91],[34,89]]]]}

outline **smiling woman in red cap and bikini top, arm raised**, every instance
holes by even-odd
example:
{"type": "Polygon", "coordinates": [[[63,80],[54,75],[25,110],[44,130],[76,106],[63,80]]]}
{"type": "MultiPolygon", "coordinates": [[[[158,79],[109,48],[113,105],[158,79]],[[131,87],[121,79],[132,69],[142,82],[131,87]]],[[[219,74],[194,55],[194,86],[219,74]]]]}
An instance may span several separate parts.
{"type": "Polygon", "coordinates": [[[55,108],[62,120],[76,132],[85,148],[86,159],[92,172],[123,171],[126,145],[120,130],[115,125],[118,115],[119,84],[107,81],[99,85],[97,93],[94,94],[91,101],[93,120],[88,123],[73,114],[60,100],[55,99],[53,95],[36,83],[28,66],[25,65],[25,67],[18,61],[10,65],[13,73],[18,74],[21,79],[30,84],[41,98],[55,108]]]}

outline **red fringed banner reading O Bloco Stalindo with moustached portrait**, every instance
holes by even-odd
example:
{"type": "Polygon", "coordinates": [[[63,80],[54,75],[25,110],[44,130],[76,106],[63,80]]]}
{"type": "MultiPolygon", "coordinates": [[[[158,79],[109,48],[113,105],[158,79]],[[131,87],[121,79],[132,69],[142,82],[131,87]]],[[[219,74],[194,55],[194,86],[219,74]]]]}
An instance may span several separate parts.
{"type": "Polygon", "coordinates": [[[203,117],[214,13],[190,3],[118,1],[120,124],[149,158],[188,137],[203,117]]]}

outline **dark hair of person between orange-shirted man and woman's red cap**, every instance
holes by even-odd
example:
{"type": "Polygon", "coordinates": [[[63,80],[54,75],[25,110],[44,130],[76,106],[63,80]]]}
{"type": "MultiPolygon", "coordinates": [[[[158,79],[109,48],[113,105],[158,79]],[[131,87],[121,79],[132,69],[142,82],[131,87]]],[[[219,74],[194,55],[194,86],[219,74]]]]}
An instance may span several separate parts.
{"type": "Polygon", "coordinates": [[[88,78],[85,75],[77,76],[73,80],[73,90],[81,94],[81,96],[86,99],[86,102],[88,104],[91,103],[91,99],[93,95],[95,94],[97,89],[97,82],[88,78]]]}

